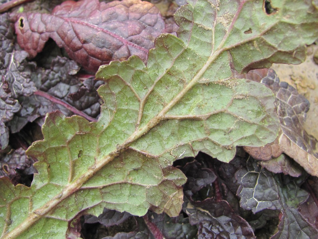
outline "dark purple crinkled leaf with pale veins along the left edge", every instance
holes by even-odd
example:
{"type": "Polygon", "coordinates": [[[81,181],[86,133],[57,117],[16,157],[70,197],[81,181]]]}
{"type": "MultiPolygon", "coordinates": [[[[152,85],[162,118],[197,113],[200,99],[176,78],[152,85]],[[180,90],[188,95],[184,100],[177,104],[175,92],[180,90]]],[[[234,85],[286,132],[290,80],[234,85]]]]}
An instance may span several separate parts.
{"type": "Polygon", "coordinates": [[[26,52],[14,50],[13,28],[8,14],[0,15],[0,146],[9,142],[9,122],[21,106],[19,96],[36,90],[30,80],[32,65],[25,61],[26,52]]]}

